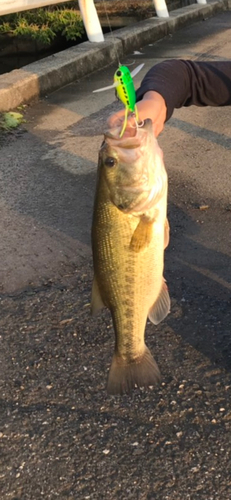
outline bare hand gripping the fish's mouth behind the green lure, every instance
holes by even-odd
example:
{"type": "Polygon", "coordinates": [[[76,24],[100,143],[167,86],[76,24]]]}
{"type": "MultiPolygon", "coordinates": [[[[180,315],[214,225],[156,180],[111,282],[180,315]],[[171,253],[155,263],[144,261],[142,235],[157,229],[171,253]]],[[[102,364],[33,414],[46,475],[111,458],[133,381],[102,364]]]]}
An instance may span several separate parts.
{"type": "MultiPolygon", "coordinates": [[[[153,123],[153,133],[155,137],[162,132],[166,120],[167,107],[161,94],[155,91],[149,91],[144,94],[143,99],[137,102],[139,121],[150,118],[153,123]]],[[[111,115],[107,121],[110,128],[122,127],[124,122],[125,110],[122,109],[111,115]]],[[[134,116],[128,117],[126,130],[134,127],[134,116]]],[[[125,134],[126,134],[125,130],[125,134]]]]}

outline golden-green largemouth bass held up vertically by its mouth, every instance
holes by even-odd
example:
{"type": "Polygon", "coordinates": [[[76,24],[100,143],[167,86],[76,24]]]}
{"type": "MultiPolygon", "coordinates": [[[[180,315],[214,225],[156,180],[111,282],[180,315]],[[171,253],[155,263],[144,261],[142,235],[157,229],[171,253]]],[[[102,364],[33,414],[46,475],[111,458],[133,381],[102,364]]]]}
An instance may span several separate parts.
{"type": "Polygon", "coordinates": [[[94,280],[91,310],[110,309],[115,352],[107,392],[152,386],[160,372],[144,340],[170,310],[163,278],[169,242],[167,173],[151,120],[104,135],[99,151],[92,223],[94,280]]]}

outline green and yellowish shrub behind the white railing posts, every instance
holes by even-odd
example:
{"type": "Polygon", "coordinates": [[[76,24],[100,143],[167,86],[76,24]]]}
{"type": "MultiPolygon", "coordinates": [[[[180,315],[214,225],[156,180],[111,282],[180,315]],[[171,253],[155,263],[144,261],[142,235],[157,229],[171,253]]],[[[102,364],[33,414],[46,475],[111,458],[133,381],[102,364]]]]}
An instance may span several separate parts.
{"type": "Polygon", "coordinates": [[[66,40],[81,38],[85,30],[75,10],[48,7],[0,17],[1,33],[30,37],[48,45],[57,35],[66,40]]]}

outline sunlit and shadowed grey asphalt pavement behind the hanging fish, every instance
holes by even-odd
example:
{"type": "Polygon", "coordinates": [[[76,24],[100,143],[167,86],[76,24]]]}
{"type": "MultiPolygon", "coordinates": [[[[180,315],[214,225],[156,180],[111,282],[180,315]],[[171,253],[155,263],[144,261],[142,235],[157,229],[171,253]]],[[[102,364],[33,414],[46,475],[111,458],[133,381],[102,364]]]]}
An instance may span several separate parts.
{"type": "MultiPolygon", "coordinates": [[[[230,59],[231,12],[124,56],[230,59]]],[[[159,387],[108,397],[110,314],[90,317],[98,149],[119,109],[116,63],[25,109],[1,138],[1,500],[230,500],[230,108],[176,110],[169,175],[170,315],[147,325],[159,387]]]]}

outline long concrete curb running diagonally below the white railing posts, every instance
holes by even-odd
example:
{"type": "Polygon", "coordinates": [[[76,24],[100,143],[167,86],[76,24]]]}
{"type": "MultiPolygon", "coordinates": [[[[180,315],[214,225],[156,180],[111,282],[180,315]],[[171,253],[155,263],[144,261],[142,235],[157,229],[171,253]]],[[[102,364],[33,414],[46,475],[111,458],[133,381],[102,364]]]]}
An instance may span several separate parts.
{"type": "Polygon", "coordinates": [[[151,18],[105,36],[105,42],[84,42],[53,56],[0,76],[0,112],[44,96],[135,49],[153,43],[183,26],[229,10],[231,0],[209,0],[170,12],[170,18],[151,18]]]}

